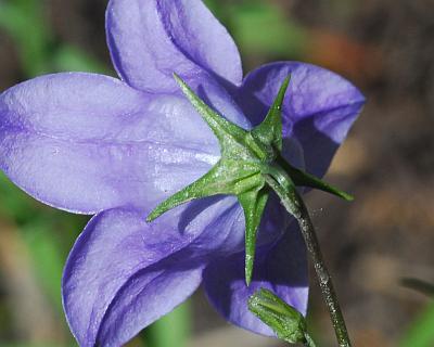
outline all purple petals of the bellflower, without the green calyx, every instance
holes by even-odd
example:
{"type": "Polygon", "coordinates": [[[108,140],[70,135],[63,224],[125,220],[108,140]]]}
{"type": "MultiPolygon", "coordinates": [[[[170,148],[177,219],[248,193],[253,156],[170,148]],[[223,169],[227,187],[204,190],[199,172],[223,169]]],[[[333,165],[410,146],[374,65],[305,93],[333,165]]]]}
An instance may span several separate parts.
{"type": "Polygon", "coordinates": [[[173,73],[246,129],[264,119],[291,74],[284,154],[319,177],[363,97],[342,77],[302,63],[261,66],[243,79],[235,44],[199,0],[112,0],[106,31],[120,80],[48,75],[0,95],[0,168],[46,204],[95,214],[63,277],[75,337],[80,346],[119,346],[201,283],[228,321],[273,336],[248,311],[248,296],[266,287],[305,313],[308,294],[303,240],[276,197],[259,228],[250,287],[244,217],[234,197],[204,198],[144,221],[220,155],[173,73]]]}

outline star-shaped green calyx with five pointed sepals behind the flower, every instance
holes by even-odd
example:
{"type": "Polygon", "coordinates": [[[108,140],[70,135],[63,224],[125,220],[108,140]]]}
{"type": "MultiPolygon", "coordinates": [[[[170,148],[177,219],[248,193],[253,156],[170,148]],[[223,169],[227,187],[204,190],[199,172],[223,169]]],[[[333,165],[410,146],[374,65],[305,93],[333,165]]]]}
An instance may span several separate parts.
{"type": "Polygon", "coordinates": [[[247,131],[216,113],[178,75],[174,76],[182,92],[217,137],[221,158],[199,180],[161,203],[148,216],[146,221],[151,222],[192,200],[219,194],[237,196],[245,217],[245,281],[248,285],[253,275],[257,230],[271,189],[282,189],[281,192],[291,195],[290,192],[296,185],[303,185],[348,201],[353,197],[283,159],[281,112],[290,77],[283,81],[265,120],[247,131]]]}

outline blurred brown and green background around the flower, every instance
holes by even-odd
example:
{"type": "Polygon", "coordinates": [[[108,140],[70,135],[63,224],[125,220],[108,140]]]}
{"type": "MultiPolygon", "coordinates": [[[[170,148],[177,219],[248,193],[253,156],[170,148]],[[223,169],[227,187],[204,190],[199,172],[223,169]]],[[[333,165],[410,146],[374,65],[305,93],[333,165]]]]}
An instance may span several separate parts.
{"type": "MultiPolygon", "coordinates": [[[[0,0],[0,91],[61,70],[114,75],[106,0],[0,0]]],[[[308,195],[355,346],[434,346],[434,2],[208,0],[244,70],[270,61],[326,66],[368,104],[327,179],[352,204],[308,195]]],[[[0,176],[0,346],[75,346],[62,268],[87,221],[46,207],[0,176]]],[[[309,329],[333,346],[311,279],[309,329]]],[[[201,291],[130,346],[283,346],[231,327],[201,291]]]]}

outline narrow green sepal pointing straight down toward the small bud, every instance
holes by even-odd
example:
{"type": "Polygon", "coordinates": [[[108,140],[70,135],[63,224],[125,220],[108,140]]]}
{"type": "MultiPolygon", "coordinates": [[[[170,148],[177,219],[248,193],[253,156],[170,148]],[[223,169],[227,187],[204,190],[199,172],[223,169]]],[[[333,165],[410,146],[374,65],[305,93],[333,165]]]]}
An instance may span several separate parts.
{"type": "Polygon", "coordinates": [[[251,284],[253,265],[256,254],[256,235],[267,205],[269,191],[267,188],[258,187],[238,195],[243,207],[245,218],[245,282],[251,284]]]}

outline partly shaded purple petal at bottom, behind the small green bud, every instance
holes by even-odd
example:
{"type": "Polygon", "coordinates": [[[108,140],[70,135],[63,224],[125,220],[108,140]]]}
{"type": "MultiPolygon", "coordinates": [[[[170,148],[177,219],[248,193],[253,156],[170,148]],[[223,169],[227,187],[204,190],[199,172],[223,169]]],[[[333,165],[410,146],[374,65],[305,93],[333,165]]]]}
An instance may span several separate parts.
{"type": "Polygon", "coordinates": [[[306,314],[308,296],[305,245],[297,229],[288,230],[273,246],[259,248],[253,281],[244,279],[244,254],[217,259],[204,271],[204,285],[209,301],[231,323],[258,334],[273,332],[248,311],[247,300],[257,290],[272,291],[299,312],[306,314]]]}

